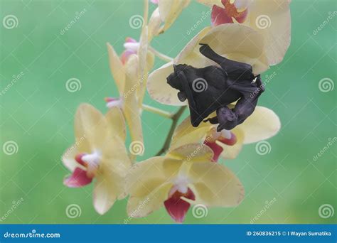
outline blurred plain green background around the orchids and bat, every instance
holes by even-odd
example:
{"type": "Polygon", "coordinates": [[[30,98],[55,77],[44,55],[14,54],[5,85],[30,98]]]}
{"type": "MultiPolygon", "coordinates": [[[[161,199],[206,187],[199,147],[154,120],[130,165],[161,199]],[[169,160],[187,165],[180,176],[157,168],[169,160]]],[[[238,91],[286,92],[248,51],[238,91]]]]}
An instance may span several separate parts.
{"type": "MultiPolygon", "coordinates": [[[[18,145],[16,153],[0,151],[1,223],[123,223],[127,200],[116,202],[106,215],[98,215],[92,206],[92,185],[79,189],[63,186],[68,171],[60,156],[74,141],[77,106],[89,102],[105,112],[103,98],[117,96],[105,43],[122,53],[124,38],[139,38],[140,29],[130,28],[129,18],[142,14],[142,1],[1,0],[0,9],[1,22],[8,15],[18,21],[15,28],[4,28],[4,23],[0,26],[0,145],[8,146],[8,141],[18,145]],[[60,31],[84,9],[85,14],[62,35],[60,31]],[[18,75],[21,77],[13,82],[18,75]],[[77,92],[65,88],[72,77],[81,82],[77,92]],[[22,202],[8,213],[18,200],[22,202]],[[80,217],[67,217],[65,209],[70,204],[80,206],[80,217]]],[[[150,3],[150,10],[154,9],[150,3]]],[[[321,205],[337,209],[337,88],[330,87],[328,92],[319,89],[323,78],[330,79],[331,85],[336,80],[335,10],[333,0],[291,2],[291,46],[284,61],[263,74],[265,79],[276,73],[259,101],[279,115],[282,129],[268,140],[270,153],[261,156],[255,144],[250,144],[235,160],[220,162],[245,185],[245,200],[238,207],[210,208],[200,219],[190,210],[186,223],[250,223],[266,201],[274,198],[255,223],[336,222],[336,214],[327,218],[319,215],[321,205]],[[324,23],[331,15],[332,19],[324,23]],[[329,141],[332,145],[315,160],[329,141]]],[[[206,6],[193,2],[167,33],[154,39],[154,48],[176,56],[193,35],[210,24],[208,17],[198,30],[186,33],[206,11],[206,6]]],[[[162,64],[156,59],[155,68],[162,64]]],[[[154,102],[149,96],[145,103],[167,111],[177,109],[154,102]]],[[[146,151],[139,160],[159,150],[169,126],[169,120],[144,112],[146,151]]],[[[164,208],[148,217],[129,220],[172,222],[164,208]]]]}

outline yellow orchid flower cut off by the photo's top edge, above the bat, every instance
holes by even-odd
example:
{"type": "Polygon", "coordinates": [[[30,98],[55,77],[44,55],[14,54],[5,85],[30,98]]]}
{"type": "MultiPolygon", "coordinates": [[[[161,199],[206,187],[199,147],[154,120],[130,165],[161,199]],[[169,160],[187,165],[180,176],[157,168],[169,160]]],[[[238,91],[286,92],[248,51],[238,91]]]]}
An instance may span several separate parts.
{"type": "Polygon", "coordinates": [[[212,6],[213,26],[242,23],[262,34],[269,65],[280,63],[290,45],[291,0],[198,0],[212,6]]]}

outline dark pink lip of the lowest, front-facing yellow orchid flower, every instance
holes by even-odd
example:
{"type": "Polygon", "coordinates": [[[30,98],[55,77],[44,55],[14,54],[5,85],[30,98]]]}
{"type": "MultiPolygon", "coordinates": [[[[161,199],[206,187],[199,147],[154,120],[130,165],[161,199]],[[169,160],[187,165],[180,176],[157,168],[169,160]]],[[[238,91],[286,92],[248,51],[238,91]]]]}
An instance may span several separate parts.
{"type": "Polygon", "coordinates": [[[182,223],[185,220],[186,213],[191,207],[191,204],[181,199],[181,197],[196,200],[196,195],[188,188],[186,193],[181,193],[179,190],[171,191],[169,198],[164,201],[166,211],[171,218],[178,223],[182,223]]]}

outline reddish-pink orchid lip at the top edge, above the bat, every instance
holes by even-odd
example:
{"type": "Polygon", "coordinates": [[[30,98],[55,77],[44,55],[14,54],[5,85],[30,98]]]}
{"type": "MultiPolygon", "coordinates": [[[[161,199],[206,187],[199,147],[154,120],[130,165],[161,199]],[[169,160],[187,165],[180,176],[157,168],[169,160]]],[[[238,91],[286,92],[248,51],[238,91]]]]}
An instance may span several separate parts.
{"type": "Polygon", "coordinates": [[[248,14],[247,6],[245,10],[239,12],[235,3],[231,4],[230,0],[222,0],[221,3],[224,8],[217,5],[213,5],[212,7],[211,22],[213,26],[223,23],[234,23],[232,18],[235,18],[238,23],[245,22],[248,14]]]}

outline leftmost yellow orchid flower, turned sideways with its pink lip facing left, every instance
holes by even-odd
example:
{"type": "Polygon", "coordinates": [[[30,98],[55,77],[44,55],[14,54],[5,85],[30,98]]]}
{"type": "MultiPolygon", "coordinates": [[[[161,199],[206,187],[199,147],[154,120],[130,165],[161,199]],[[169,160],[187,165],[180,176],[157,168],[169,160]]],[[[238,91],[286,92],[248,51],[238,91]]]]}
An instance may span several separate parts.
{"type": "Polygon", "coordinates": [[[125,197],[124,178],[131,167],[122,112],[114,107],[104,116],[90,104],[81,104],[75,114],[75,138],[63,155],[65,167],[72,171],[64,184],[78,188],[95,180],[93,204],[102,215],[117,198],[125,197]]]}

